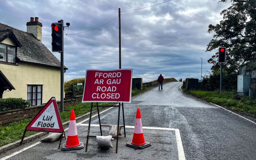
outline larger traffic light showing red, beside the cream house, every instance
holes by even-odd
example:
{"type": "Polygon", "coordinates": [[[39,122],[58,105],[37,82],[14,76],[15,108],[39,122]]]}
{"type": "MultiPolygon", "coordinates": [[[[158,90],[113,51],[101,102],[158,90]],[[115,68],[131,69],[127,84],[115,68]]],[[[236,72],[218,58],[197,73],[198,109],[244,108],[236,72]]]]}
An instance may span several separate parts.
{"type": "Polygon", "coordinates": [[[63,52],[63,24],[51,23],[51,50],[63,52]]]}

